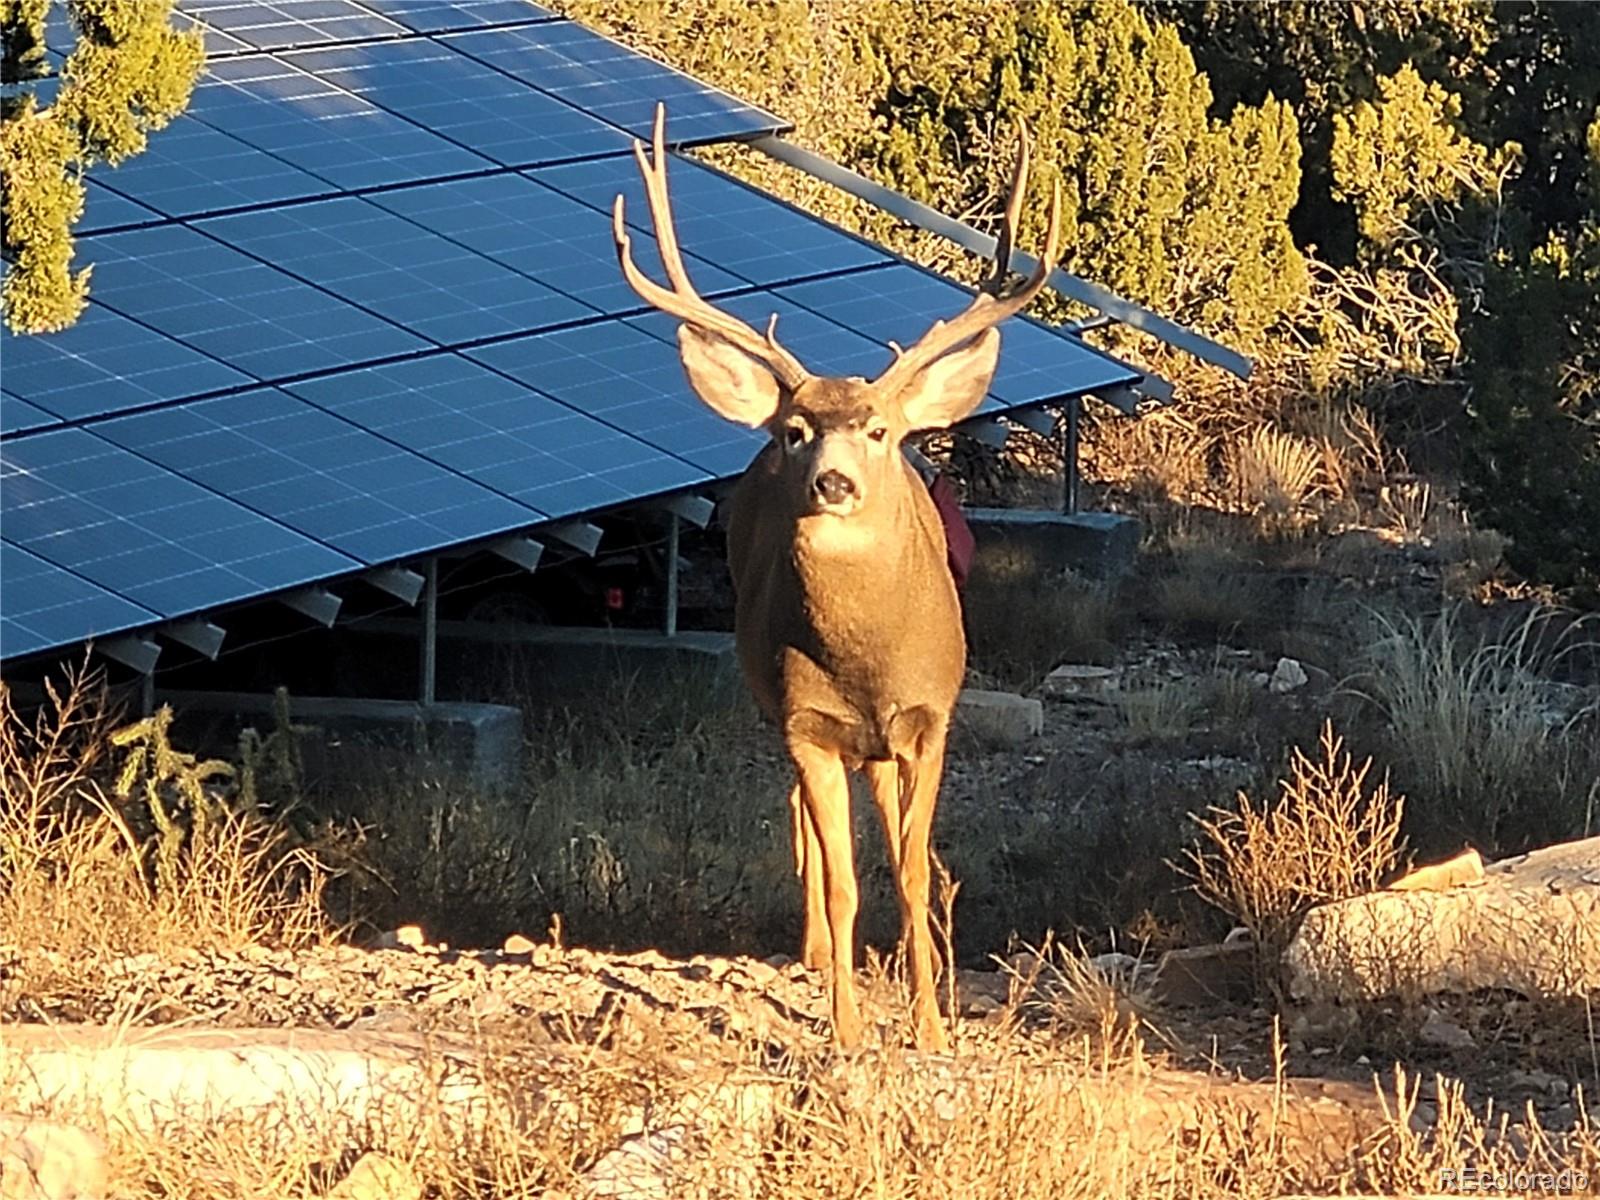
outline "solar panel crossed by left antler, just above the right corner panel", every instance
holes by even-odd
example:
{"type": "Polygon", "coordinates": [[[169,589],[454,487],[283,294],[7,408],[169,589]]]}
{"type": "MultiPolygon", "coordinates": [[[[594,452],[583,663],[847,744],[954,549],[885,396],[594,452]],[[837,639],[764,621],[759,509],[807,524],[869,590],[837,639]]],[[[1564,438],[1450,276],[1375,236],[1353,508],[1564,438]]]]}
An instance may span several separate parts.
{"type": "MultiPolygon", "coordinates": [[[[528,174],[606,214],[621,192],[627,224],[651,227],[632,155],[528,174]]],[[[893,261],[877,246],[688,158],[674,155],[667,184],[678,245],[750,283],[768,286],[893,261]]]]}

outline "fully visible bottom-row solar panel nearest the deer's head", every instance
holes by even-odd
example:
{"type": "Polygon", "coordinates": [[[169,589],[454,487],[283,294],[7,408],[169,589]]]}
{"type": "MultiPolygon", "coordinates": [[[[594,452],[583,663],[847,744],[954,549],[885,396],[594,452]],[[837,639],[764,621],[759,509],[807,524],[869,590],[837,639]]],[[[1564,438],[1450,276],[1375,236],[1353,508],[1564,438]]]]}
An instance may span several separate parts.
{"type": "Polygon", "coordinates": [[[453,354],[288,390],[552,517],[707,482],[688,462],[453,354]]]}

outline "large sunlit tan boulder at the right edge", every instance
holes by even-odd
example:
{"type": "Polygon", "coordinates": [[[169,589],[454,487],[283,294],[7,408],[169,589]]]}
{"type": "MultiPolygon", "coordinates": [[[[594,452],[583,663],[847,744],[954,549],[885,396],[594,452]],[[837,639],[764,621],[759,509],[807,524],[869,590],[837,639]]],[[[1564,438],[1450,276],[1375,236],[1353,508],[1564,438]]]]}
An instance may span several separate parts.
{"type": "Polygon", "coordinates": [[[1325,904],[1285,954],[1302,1000],[1600,990],[1600,837],[1325,904]],[[1454,883],[1453,878],[1469,882],[1454,883]]]}

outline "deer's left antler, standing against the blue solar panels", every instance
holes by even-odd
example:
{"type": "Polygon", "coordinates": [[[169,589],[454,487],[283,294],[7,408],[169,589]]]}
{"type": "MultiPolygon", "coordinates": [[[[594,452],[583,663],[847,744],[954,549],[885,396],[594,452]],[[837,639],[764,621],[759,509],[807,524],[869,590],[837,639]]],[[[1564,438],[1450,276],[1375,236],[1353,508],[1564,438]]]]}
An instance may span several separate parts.
{"type": "Polygon", "coordinates": [[[773,320],[766,326],[766,336],[762,336],[738,317],[712,306],[690,283],[688,270],[683,267],[683,254],[678,251],[677,229],[672,224],[672,200],[667,195],[666,126],[667,109],[664,104],[658,104],[656,125],[651,133],[651,154],[646,158],[645,144],[635,139],[634,158],[638,162],[638,173],[645,179],[645,200],[650,203],[650,219],[656,227],[661,264],[666,267],[667,282],[672,286],[662,288],[634,264],[627,224],[622,216],[622,197],[618,194],[616,202],[611,205],[611,237],[616,240],[616,258],[622,266],[622,277],[646,304],[733,342],[744,354],[765,363],[778,378],[778,382],[792,392],[810,379],[811,373],[802,366],[798,358],[778,344],[778,314],[773,314],[773,320]]]}

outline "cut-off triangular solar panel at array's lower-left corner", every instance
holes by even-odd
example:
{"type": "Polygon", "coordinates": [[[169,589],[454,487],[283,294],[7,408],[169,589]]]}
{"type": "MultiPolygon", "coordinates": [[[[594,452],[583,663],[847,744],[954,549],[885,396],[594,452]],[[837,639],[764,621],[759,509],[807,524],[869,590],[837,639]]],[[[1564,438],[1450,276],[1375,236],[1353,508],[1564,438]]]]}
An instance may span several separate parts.
{"type": "Polygon", "coordinates": [[[85,637],[120,634],[157,621],[157,614],[112,595],[21,546],[0,541],[0,656],[32,654],[85,637]]]}

